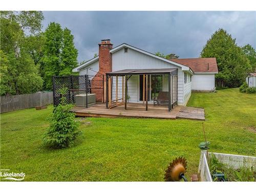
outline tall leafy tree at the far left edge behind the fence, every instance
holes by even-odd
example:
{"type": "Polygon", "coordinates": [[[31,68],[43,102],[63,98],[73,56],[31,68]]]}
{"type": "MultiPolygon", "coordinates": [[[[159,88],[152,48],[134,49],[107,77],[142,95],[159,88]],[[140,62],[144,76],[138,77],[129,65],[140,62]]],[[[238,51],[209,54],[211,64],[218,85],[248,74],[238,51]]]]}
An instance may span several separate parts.
{"type": "Polygon", "coordinates": [[[41,90],[39,67],[28,53],[26,42],[28,35],[40,32],[43,18],[40,11],[1,12],[1,95],[41,90]]]}

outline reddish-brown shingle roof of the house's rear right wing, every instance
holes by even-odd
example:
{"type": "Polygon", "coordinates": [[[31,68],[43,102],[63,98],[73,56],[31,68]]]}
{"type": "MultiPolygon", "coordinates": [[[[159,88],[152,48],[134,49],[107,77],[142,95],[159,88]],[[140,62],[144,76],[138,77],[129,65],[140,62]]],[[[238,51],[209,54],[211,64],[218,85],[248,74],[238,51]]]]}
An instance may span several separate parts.
{"type": "Polygon", "coordinates": [[[215,57],[212,58],[188,58],[188,59],[170,59],[178,62],[181,65],[190,67],[195,73],[199,72],[216,72],[218,73],[218,66],[215,57]]]}

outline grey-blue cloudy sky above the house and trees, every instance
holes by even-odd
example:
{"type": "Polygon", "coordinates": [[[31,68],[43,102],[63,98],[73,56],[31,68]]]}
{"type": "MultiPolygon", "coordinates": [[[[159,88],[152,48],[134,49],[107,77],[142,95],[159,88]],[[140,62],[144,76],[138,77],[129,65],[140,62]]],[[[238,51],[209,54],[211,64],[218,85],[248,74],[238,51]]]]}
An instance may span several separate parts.
{"type": "Polygon", "coordinates": [[[256,48],[256,12],[202,11],[45,11],[44,30],[50,22],[69,28],[78,49],[78,61],[98,53],[100,39],[123,42],[145,51],[199,57],[211,34],[219,28],[239,46],[256,48]]]}

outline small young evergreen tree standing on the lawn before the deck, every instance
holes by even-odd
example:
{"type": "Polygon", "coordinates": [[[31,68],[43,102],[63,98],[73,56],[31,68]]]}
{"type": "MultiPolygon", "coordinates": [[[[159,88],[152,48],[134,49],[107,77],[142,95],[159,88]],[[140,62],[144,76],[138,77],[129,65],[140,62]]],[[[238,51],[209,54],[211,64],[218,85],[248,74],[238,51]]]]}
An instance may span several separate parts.
{"type": "Polygon", "coordinates": [[[75,114],[70,112],[72,104],[67,104],[63,96],[67,89],[61,90],[61,101],[47,117],[50,126],[44,136],[44,144],[49,144],[55,148],[66,148],[74,144],[74,140],[81,132],[78,131],[79,122],[75,120],[75,114]]]}

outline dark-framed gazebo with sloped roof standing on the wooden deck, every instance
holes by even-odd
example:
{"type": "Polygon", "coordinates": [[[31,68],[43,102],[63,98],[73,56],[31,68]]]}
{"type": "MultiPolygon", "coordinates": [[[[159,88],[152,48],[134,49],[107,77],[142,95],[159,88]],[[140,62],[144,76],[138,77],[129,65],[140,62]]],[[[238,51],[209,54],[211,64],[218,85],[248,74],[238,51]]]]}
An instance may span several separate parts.
{"type": "Polygon", "coordinates": [[[127,69],[106,73],[106,108],[129,103],[166,105],[171,111],[178,100],[177,69],[127,69]]]}

